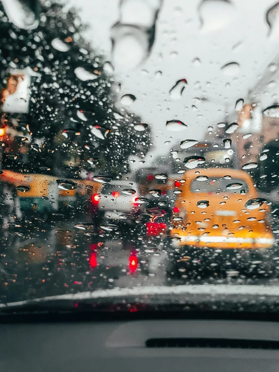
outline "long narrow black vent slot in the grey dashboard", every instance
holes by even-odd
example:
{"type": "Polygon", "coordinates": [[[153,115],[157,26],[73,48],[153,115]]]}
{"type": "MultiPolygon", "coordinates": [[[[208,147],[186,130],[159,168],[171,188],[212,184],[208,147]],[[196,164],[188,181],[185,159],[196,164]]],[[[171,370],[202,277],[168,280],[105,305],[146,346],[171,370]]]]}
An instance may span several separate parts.
{"type": "Polygon", "coordinates": [[[279,349],[279,341],[227,338],[150,338],[146,347],[199,347],[232,349],[279,349]]]}

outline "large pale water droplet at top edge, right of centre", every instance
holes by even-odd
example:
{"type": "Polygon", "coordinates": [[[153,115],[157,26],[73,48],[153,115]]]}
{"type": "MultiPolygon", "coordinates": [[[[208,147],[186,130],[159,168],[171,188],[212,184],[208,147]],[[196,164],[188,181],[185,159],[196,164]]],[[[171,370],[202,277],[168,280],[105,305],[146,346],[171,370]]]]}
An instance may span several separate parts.
{"type": "Polygon", "coordinates": [[[229,1],[203,0],[199,6],[201,32],[211,32],[227,26],[236,17],[236,8],[229,1]]]}

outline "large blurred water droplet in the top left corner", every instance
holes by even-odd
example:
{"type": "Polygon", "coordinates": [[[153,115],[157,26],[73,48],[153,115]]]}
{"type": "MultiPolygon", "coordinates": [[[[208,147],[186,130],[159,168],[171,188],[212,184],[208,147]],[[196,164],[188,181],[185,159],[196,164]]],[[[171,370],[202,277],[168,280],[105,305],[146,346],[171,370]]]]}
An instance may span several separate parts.
{"type": "Polygon", "coordinates": [[[15,26],[24,30],[33,30],[38,27],[39,14],[37,2],[2,0],[2,4],[9,20],[15,26]]]}

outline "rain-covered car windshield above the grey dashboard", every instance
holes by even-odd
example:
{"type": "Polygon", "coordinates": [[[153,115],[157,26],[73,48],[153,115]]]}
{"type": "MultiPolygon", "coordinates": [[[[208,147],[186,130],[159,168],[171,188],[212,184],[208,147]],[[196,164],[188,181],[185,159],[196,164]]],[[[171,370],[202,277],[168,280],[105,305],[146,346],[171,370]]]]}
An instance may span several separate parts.
{"type": "Polygon", "coordinates": [[[272,0],[0,0],[0,312],[277,311],[278,30],[272,0]]]}

